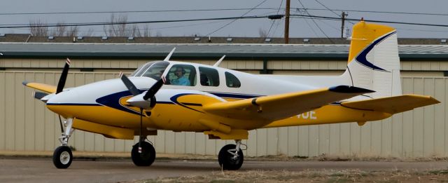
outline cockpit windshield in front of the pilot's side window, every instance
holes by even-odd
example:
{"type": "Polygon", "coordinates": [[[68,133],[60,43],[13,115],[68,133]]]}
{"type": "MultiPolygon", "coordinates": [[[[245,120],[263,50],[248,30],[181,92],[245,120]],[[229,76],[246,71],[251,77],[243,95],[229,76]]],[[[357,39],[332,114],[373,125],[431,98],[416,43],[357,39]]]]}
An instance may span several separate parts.
{"type": "Polygon", "coordinates": [[[158,80],[162,76],[163,72],[165,72],[165,69],[167,69],[168,65],[169,62],[166,61],[148,62],[145,65],[137,68],[137,70],[135,70],[135,72],[132,73],[131,76],[144,76],[158,80]]]}

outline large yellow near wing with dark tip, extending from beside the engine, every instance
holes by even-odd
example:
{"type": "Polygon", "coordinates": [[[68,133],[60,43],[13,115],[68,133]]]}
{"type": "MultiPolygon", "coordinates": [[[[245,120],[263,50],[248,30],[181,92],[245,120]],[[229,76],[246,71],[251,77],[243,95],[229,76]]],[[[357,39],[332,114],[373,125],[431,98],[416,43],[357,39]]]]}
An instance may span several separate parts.
{"type": "Polygon", "coordinates": [[[204,111],[238,119],[275,121],[322,107],[363,93],[374,91],[353,86],[335,86],[296,93],[269,95],[235,102],[217,102],[204,106],[204,111]]]}

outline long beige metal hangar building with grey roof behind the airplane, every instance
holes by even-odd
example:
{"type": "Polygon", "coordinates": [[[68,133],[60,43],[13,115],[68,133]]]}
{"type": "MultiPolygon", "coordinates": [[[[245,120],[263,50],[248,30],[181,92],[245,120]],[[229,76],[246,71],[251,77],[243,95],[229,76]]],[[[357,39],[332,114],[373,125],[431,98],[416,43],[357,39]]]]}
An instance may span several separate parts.
{"type": "MultiPolygon", "coordinates": [[[[118,78],[139,65],[172,60],[213,65],[253,74],[337,75],[346,68],[349,41],[260,38],[101,38],[0,35],[0,151],[53,151],[59,146],[57,116],[31,97],[22,81],[56,85],[65,57],[72,61],[66,87],[118,78]]],[[[247,156],[448,156],[448,45],[446,39],[399,39],[403,93],[432,95],[442,102],[395,114],[384,121],[253,130],[247,156]]],[[[107,115],[107,114],[99,114],[107,115]]],[[[230,141],[202,133],[159,131],[149,138],[158,153],[218,154],[230,141]]],[[[76,131],[78,151],[130,151],[135,142],[76,131]]]]}

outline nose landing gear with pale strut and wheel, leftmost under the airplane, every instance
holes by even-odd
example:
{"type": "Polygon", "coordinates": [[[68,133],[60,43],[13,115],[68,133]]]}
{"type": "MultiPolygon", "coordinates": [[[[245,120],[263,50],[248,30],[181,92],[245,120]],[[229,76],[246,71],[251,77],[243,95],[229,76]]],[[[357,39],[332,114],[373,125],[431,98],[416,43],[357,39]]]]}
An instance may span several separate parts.
{"type": "MultiPolygon", "coordinates": [[[[59,118],[60,119],[60,118],[59,118]]],[[[57,147],[53,152],[53,164],[56,168],[69,168],[71,161],[73,160],[73,154],[71,154],[71,149],[68,147],[69,138],[73,134],[73,118],[67,118],[65,121],[65,132],[61,123],[62,136],[59,137],[59,142],[61,146],[57,147]]]]}

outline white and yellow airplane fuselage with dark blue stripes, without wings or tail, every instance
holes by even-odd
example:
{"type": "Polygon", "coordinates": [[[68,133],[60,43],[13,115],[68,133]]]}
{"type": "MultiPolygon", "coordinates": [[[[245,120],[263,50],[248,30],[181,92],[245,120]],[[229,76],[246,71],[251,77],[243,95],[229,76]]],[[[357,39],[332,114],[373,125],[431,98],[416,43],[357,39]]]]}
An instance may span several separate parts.
{"type": "MultiPolygon", "coordinates": [[[[179,63],[185,64],[183,62],[170,62],[167,68],[172,65],[179,65],[179,63]]],[[[210,67],[198,64],[190,65],[195,69],[210,67]]],[[[195,86],[163,86],[155,95],[157,104],[151,110],[151,114],[144,111],[144,128],[147,130],[203,132],[209,130],[209,127],[204,126],[200,121],[206,120],[218,121],[223,124],[226,124],[226,121],[232,121],[234,126],[235,121],[240,121],[235,128],[253,130],[262,127],[339,123],[341,121],[359,121],[363,118],[365,120],[361,121],[366,121],[367,119],[377,120],[388,117],[388,115],[379,112],[363,111],[360,113],[358,110],[341,107],[338,104],[329,104],[279,121],[251,121],[250,119],[241,120],[231,116],[223,117],[207,114],[202,106],[210,102],[244,100],[265,95],[311,90],[318,87],[269,78],[268,76],[260,77],[219,67],[210,68],[218,71],[221,81],[219,86],[202,86],[200,82],[197,82],[195,86]],[[241,86],[239,88],[226,86],[225,72],[237,76],[241,86]],[[353,115],[346,115],[347,113],[353,115]]],[[[167,74],[167,71],[165,71],[165,74],[167,74]]],[[[141,92],[148,90],[156,82],[155,79],[146,76],[131,76],[130,80],[141,92]]],[[[127,104],[126,101],[131,97],[131,93],[120,79],[109,79],[65,90],[51,97],[47,102],[47,107],[65,118],[78,118],[106,126],[137,130],[141,114],[138,107],[127,104]]]]}

